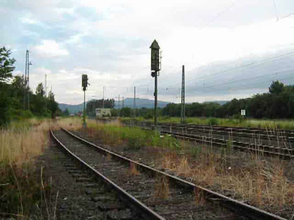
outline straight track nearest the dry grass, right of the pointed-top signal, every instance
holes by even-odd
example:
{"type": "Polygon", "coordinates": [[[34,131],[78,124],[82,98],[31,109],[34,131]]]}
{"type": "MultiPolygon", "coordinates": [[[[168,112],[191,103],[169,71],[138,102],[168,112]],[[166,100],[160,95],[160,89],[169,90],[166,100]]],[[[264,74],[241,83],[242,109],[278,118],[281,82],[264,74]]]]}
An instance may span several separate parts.
{"type": "MultiPolygon", "coordinates": [[[[154,129],[154,124],[150,122],[128,122],[125,123],[127,126],[139,126],[144,129],[154,129]]],[[[190,126],[190,125],[189,125],[190,126]]],[[[283,136],[277,136],[280,138],[280,144],[276,145],[278,141],[270,141],[271,144],[260,144],[259,141],[256,142],[256,139],[250,140],[248,138],[245,138],[241,141],[240,136],[236,132],[230,132],[226,131],[226,136],[221,136],[219,133],[214,133],[211,129],[206,129],[207,132],[199,132],[199,133],[193,133],[195,131],[195,128],[189,129],[189,126],[186,127],[186,125],[180,125],[180,124],[170,124],[166,125],[165,123],[160,123],[158,130],[162,134],[168,134],[173,135],[176,138],[179,139],[186,139],[189,141],[195,141],[197,143],[201,144],[209,144],[214,145],[218,147],[225,147],[225,148],[233,148],[238,150],[246,150],[251,151],[254,153],[258,153],[261,155],[267,154],[267,155],[275,155],[279,156],[281,158],[294,158],[294,149],[291,148],[291,145],[285,144],[285,137],[283,136]],[[209,131],[209,132],[208,132],[209,131]],[[225,138],[226,137],[226,138],[225,138]],[[233,138],[234,137],[234,138],[233,138]]],[[[197,126],[197,125],[193,125],[197,126]]],[[[202,129],[202,128],[201,128],[202,129]]],[[[214,128],[213,128],[214,129],[214,128]]],[[[233,129],[233,128],[232,128],[233,129]]],[[[224,132],[224,131],[222,131],[224,132]]],[[[248,134],[249,135],[249,134],[248,134]]],[[[252,134],[252,137],[254,137],[255,134],[252,134]]],[[[251,137],[251,138],[252,138],[251,137]]],[[[258,137],[255,137],[258,138],[258,137]]],[[[291,137],[286,137],[288,140],[291,139],[291,137]]]]}

